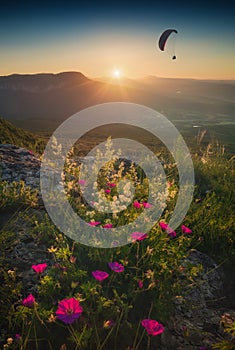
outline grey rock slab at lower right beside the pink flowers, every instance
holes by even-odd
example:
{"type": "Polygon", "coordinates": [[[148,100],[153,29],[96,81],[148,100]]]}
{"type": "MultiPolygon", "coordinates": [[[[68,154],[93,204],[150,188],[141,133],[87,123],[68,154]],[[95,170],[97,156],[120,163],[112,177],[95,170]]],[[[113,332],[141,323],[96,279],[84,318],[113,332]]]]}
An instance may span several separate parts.
{"type": "Polygon", "coordinates": [[[221,341],[221,316],[225,310],[218,308],[216,300],[223,297],[223,273],[206,254],[191,250],[184,262],[202,265],[195,285],[176,299],[174,312],[162,334],[161,350],[192,349],[221,341]],[[183,342],[183,343],[182,343],[183,342]]]}

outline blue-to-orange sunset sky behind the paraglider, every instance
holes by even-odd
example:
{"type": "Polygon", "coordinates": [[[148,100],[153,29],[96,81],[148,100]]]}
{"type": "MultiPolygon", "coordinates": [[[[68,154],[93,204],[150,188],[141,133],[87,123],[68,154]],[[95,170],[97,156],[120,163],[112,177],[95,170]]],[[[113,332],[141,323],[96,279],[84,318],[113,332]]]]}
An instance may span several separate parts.
{"type": "Polygon", "coordinates": [[[231,1],[3,1],[0,75],[235,79],[231,1]],[[176,29],[166,51],[161,33],[176,29]],[[177,56],[172,60],[173,55],[177,56]],[[116,74],[118,75],[118,74],[116,74]]]}

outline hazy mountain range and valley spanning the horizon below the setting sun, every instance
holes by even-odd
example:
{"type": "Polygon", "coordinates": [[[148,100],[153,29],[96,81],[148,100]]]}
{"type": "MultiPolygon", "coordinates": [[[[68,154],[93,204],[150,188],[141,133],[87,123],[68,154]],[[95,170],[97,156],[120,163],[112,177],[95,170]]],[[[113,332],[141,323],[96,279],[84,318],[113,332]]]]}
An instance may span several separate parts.
{"type": "Polygon", "coordinates": [[[156,76],[93,80],[81,72],[0,76],[0,115],[35,132],[51,133],[86,107],[120,101],[159,111],[183,135],[195,136],[197,125],[207,135],[234,144],[234,97],[234,81],[156,76]]]}

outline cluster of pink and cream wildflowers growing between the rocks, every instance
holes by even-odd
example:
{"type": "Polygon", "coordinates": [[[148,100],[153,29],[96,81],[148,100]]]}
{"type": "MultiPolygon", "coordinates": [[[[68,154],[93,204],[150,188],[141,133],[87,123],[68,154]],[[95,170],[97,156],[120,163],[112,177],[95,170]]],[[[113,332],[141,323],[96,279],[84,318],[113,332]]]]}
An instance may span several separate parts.
{"type": "MultiPolygon", "coordinates": [[[[60,148],[55,147],[55,151],[59,152],[60,148]]],[[[112,154],[110,140],[106,152],[112,154]]],[[[99,168],[96,161],[102,158],[104,155],[98,152],[92,166],[99,168]]],[[[83,190],[89,184],[88,177],[80,178],[82,165],[67,161],[62,176],[73,208],[88,226],[105,228],[107,235],[115,227],[134,222],[142,212],[146,214],[144,220],[150,220],[156,200],[159,207],[166,208],[163,202],[168,196],[167,186],[164,193],[157,190],[159,179],[156,179],[155,198],[149,201],[148,180],[144,175],[138,176],[140,171],[133,164],[114,159],[101,168],[91,203],[83,198],[83,190]]],[[[43,239],[50,233],[47,252],[53,264],[42,261],[32,265],[38,284],[35,293],[18,299],[12,309],[13,343],[24,344],[26,348],[30,342],[39,343],[43,333],[42,342],[46,341],[48,347],[53,342],[58,349],[73,348],[74,344],[81,350],[87,349],[88,344],[91,350],[134,349],[140,344],[147,349],[150,336],[156,346],[174,301],[172,290],[179,294],[187,282],[187,274],[190,275],[190,267],[182,271],[181,262],[187,255],[192,230],[182,225],[177,233],[166,223],[170,215],[167,207],[164,221],[149,232],[142,232],[136,225],[129,233],[129,244],[119,247],[114,242],[113,246],[117,247],[107,249],[72,242],[46,216],[41,224],[35,220],[33,233],[40,233],[43,239]]]]}

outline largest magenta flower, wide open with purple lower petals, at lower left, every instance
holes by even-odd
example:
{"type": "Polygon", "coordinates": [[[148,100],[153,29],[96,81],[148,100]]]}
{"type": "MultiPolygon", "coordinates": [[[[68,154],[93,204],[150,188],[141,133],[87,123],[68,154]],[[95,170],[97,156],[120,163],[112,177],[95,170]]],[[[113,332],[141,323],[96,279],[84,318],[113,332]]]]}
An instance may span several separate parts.
{"type": "Polygon", "coordinates": [[[79,318],[82,312],[83,308],[81,307],[77,299],[63,299],[58,304],[56,316],[62,322],[70,324],[73,323],[77,318],[79,318]]]}

